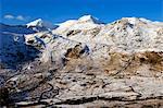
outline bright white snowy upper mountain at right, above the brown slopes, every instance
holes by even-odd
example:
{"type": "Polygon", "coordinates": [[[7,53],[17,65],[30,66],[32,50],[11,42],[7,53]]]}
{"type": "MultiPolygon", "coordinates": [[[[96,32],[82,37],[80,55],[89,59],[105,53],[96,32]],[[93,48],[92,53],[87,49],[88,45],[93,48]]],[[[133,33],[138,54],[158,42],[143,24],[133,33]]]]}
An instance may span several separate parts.
{"type": "Polygon", "coordinates": [[[115,50],[163,50],[162,27],[161,22],[149,22],[137,17],[123,17],[105,25],[92,22],[80,23],[79,19],[62,23],[53,34],[79,43],[112,46],[115,50]]]}

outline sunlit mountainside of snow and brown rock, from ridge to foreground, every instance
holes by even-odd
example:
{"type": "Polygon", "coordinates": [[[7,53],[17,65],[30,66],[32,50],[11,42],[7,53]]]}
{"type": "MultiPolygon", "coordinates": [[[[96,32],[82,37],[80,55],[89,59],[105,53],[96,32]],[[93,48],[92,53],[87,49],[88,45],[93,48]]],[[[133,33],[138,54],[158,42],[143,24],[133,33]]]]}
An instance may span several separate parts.
{"type": "Polygon", "coordinates": [[[23,45],[39,52],[23,51],[34,59],[18,71],[1,69],[3,85],[15,101],[45,99],[52,106],[162,99],[162,28],[163,23],[145,19],[103,24],[87,15],[25,35],[23,45]]]}

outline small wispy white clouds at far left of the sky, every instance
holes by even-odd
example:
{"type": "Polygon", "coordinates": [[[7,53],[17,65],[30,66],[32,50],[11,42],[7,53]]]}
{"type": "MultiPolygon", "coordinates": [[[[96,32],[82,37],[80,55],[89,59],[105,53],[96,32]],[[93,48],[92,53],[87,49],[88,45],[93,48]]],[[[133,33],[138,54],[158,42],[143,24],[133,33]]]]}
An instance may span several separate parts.
{"type": "Polygon", "coordinates": [[[23,15],[12,15],[12,14],[5,14],[3,17],[7,20],[17,20],[17,21],[25,21],[27,19],[23,15]]]}

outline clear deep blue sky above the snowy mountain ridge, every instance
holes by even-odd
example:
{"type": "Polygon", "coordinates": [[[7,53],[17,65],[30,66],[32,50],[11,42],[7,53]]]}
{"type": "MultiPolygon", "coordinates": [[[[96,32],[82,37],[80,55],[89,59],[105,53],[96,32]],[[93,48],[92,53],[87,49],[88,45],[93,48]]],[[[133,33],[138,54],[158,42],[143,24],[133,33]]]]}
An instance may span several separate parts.
{"type": "Polygon", "coordinates": [[[91,14],[105,23],[136,16],[163,21],[163,0],[0,0],[0,22],[25,24],[36,19],[60,23],[91,14]]]}

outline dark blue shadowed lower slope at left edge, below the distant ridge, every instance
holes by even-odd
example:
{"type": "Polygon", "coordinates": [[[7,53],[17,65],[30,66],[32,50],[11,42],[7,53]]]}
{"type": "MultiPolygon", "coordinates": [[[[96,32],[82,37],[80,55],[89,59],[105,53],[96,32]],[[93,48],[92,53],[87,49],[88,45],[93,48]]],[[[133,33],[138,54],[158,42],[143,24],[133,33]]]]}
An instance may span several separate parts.
{"type": "Polygon", "coordinates": [[[16,69],[17,65],[33,61],[40,51],[25,44],[24,35],[0,33],[0,67],[16,69]]]}

